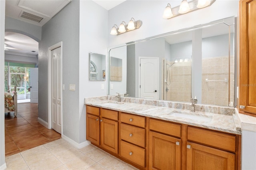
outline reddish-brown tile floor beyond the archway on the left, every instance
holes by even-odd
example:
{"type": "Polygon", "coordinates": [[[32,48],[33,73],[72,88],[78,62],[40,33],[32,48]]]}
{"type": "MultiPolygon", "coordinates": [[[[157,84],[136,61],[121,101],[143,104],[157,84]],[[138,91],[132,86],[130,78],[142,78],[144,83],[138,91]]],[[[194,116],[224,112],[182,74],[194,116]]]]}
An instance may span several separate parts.
{"type": "Polygon", "coordinates": [[[18,115],[5,113],[5,156],[61,138],[61,134],[38,123],[37,103],[19,103],[18,115]]]}

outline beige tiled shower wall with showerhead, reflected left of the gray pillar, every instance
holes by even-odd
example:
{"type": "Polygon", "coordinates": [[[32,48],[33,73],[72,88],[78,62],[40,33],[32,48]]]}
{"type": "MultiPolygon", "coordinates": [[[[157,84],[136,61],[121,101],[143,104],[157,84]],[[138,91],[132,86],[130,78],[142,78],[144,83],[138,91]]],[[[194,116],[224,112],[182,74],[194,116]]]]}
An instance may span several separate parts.
{"type": "MultiPolygon", "coordinates": [[[[168,62],[168,65],[172,64],[173,62],[168,62]]],[[[174,63],[169,68],[170,77],[169,73],[167,75],[166,69],[164,70],[164,80],[167,81],[164,83],[164,100],[190,102],[191,60],[188,62],[174,63]],[[166,86],[168,88],[167,92],[166,86]]]]}

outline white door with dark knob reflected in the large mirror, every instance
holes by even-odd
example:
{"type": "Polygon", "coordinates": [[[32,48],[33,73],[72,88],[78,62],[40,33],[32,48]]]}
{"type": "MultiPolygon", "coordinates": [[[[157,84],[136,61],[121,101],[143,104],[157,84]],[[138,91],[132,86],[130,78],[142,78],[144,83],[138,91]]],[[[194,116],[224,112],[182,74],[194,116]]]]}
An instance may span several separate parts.
{"type": "Polygon", "coordinates": [[[158,75],[159,75],[158,57],[139,57],[139,94],[141,98],[159,99],[158,75]]]}

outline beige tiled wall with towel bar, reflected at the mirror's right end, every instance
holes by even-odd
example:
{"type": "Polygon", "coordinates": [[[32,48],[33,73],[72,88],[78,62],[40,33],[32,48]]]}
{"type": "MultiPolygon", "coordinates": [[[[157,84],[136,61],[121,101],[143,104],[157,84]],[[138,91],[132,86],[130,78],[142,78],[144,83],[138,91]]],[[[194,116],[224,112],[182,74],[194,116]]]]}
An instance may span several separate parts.
{"type": "Polygon", "coordinates": [[[202,59],[202,103],[232,106],[234,102],[234,56],[202,59]],[[229,67],[230,62],[230,67],[229,67]],[[229,77],[230,68],[230,77],[229,77]],[[206,79],[209,81],[207,82],[206,79]],[[224,80],[227,79],[227,82],[224,80]],[[229,84],[230,83],[230,84],[229,84]],[[229,90],[230,85],[230,90],[229,90]],[[230,98],[230,103],[229,103],[230,98]]]}

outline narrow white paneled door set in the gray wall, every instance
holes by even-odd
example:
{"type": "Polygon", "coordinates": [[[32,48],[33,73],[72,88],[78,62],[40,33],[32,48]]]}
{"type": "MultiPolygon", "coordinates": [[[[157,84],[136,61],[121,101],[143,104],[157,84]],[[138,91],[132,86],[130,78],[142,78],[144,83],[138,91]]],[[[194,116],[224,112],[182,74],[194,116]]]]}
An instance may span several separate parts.
{"type": "Polygon", "coordinates": [[[52,128],[61,134],[61,48],[51,51],[52,128]]]}

